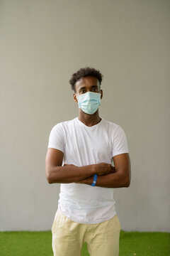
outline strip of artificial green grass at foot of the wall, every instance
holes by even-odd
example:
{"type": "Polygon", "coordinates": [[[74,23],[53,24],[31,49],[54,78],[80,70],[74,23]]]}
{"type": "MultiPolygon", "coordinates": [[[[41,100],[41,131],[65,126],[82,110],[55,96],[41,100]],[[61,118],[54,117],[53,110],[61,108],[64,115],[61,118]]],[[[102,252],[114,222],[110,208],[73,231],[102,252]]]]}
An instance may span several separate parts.
{"type": "MultiPolygon", "coordinates": [[[[0,232],[0,255],[53,256],[52,233],[51,231],[0,232]]],[[[131,255],[169,256],[170,233],[125,232],[121,230],[119,256],[131,255]]],[[[86,243],[82,247],[81,256],[89,256],[86,243]]]]}

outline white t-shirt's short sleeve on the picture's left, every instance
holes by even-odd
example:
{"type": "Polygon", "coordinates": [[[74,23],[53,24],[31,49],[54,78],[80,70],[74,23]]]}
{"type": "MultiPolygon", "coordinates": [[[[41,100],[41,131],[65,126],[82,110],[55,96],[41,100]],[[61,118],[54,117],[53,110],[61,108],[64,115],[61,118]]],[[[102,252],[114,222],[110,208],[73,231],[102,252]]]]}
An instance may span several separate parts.
{"type": "Polygon", "coordinates": [[[52,127],[47,147],[64,152],[64,132],[61,124],[52,127]]]}

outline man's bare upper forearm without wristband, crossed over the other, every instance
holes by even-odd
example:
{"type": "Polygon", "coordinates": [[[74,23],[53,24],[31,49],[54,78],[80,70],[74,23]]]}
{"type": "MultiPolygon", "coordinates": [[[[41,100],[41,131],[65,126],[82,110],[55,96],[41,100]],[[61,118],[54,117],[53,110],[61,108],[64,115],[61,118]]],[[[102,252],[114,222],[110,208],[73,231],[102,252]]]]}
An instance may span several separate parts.
{"type": "Polygon", "coordinates": [[[72,183],[94,175],[94,165],[87,166],[55,166],[50,170],[49,183],[72,183]]]}

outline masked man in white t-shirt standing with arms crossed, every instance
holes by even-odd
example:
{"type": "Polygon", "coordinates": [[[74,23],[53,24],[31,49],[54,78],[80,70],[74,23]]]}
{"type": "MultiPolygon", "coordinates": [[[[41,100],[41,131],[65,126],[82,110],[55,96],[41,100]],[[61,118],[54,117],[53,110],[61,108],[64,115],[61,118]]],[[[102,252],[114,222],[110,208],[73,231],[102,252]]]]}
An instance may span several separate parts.
{"type": "Polygon", "coordinates": [[[130,156],[123,128],[99,117],[102,76],[89,67],[72,75],[79,116],[50,132],[45,174],[48,183],[61,183],[52,224],[54,256],[79,256],[84,242],[91,256],[119,253],[113,188],[130,186],[130,156]]]}

